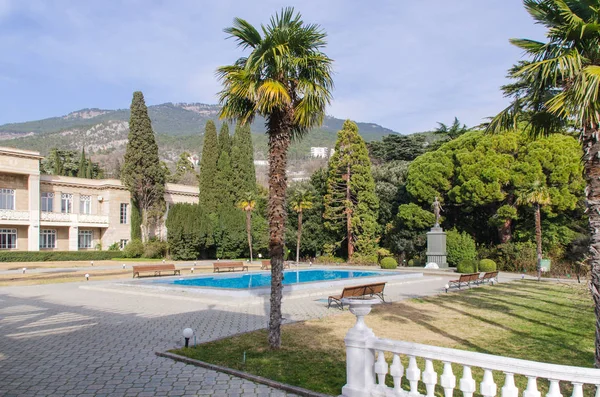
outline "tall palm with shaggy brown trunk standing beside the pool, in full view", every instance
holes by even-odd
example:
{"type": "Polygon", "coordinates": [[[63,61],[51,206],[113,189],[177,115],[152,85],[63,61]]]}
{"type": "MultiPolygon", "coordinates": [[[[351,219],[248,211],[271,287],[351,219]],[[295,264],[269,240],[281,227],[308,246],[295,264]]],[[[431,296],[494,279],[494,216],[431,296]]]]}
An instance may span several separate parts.
{"type": "Polygon", "coordinates": [[[277,349],[281,346],[287,152],[292,139],[323,123],[325,107],[331,102],[333,61],[321,51],[325,32],[318,25],[305,24],[293,8],[275,14],[260,31],[236,18],[225,32],[250,53],[217,70],[223,84],[220,116],[242,124],[262,116],[269,137],[269,345],[277,349]]]}

